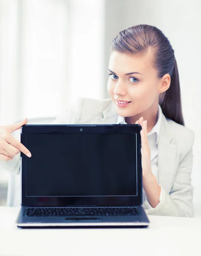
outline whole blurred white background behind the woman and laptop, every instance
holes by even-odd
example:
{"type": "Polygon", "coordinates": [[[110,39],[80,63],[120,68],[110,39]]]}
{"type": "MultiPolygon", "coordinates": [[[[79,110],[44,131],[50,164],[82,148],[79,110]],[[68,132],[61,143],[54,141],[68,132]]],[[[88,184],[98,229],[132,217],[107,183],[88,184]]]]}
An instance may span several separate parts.
{"type": "MultiPolygon", "coordinates": [[[[201,2],[0,0],[0,125],[53,118],[77,97],[105,99],[109,49],[119,31],[157,26],[175,50],[185,125],[195,131],[195,216],[201,212],[201,2]]],[[[185,140],[185,138],[184,138],[185,140]]],[[[10,174],[0,169],[0,205],[10,174]]]]}

